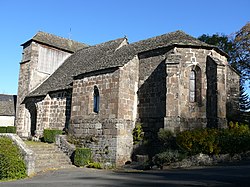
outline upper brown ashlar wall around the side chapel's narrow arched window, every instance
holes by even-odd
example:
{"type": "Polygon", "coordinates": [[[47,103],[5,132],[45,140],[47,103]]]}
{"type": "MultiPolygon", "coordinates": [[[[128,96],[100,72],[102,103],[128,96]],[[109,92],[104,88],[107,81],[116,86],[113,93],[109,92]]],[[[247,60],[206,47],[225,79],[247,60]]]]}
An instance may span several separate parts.
{"type": "MultiPolygon", "coordinates": [[[[78,124],[81,119],[113,119],[118,116],[119,72],[93,75],[74,80],[71,120],[78,124]],[[99,113],[93,111],[94,86],[100,93],[99,113]]],[[[81,132],[77,132],[81,134],[81,132]]]]}

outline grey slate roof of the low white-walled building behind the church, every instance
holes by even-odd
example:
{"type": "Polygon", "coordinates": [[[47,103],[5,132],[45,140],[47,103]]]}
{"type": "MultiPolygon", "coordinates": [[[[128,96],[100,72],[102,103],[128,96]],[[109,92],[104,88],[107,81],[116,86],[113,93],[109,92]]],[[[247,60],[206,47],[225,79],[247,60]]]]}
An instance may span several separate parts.
{"type": "Polygon", "coordinates": [[[0,116],[15,116],[16,95],[0,94],[0,116]]]}

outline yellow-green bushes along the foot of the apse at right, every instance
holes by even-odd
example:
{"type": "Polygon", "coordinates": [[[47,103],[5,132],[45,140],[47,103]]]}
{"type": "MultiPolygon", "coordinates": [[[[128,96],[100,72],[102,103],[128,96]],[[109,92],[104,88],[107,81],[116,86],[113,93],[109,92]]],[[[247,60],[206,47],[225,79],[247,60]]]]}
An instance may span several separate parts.
{"type": "Polygon", "coordinates": [[[228,129],[195,129],[179,133],[176,141],[190,155],[233,155],[250,151],[250,130],[247,125],[228,129]]]}

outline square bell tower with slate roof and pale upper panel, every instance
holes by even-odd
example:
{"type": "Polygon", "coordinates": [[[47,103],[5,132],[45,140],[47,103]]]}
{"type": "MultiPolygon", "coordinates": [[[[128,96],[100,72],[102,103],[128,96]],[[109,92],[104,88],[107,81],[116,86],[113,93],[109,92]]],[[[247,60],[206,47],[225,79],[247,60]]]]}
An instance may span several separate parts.
{"type": "MultiPolygon", "coordinates": [[[[39,31],[21,46],[23,53],[18,80],[16,127],[19,136],[29,137],[32,115],[23,104],[24,99],[53,74],[66,58],[87,45],[39,31]]],[[[35,103],[32,105],[36,109],[35,103]]]]}

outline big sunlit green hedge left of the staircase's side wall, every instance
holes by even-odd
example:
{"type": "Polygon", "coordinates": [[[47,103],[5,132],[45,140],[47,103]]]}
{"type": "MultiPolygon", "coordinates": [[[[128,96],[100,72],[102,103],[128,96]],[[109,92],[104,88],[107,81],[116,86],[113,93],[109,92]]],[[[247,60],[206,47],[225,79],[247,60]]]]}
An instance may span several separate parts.
{"type": "Polygon", "coordinates": [[[21,179],[26,177],[23,158],[12,140],[0,137],[0,180],[21,179]]]}

